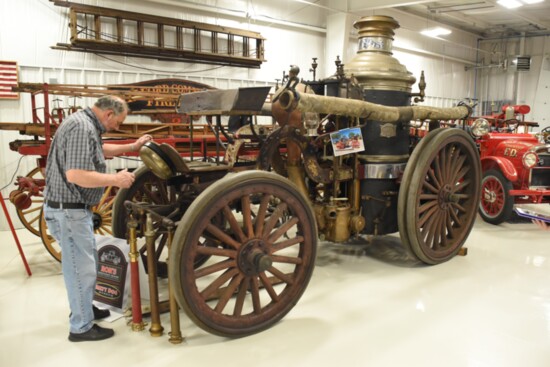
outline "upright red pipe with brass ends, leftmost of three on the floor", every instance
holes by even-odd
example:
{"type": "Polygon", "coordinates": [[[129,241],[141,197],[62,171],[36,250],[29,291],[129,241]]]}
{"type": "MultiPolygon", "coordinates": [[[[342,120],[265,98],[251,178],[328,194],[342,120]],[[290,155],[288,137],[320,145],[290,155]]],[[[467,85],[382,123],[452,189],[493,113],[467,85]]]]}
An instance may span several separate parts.
{"type": "Polygon", "coordinates": [[[145,326],[141,313],[141,294],[139,292],[139,251],[137,250],[136,238],[137,220],[133,215],[130,215],[127,227],[128,243],[130,245],[130,252],[128,254],[130,257],[130,278],[132,283],[132,331],[142,331],[145,326]]]}

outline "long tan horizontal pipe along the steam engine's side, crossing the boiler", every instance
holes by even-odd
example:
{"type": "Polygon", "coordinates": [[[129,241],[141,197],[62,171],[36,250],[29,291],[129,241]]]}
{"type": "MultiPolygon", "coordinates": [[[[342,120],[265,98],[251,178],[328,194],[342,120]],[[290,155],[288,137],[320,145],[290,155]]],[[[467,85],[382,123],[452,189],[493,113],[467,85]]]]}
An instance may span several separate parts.
{"type": "Polygon", "coordinates": [[[279,103],[287,111],[298,110],[301,112],[353,116],[389,123],[409,120],[464,119],[470,113],[469,108],[466,106],[451,108],[425,106],[391,107],[355,99],[300,93],[289,89],[281,93],[279,103]]]}

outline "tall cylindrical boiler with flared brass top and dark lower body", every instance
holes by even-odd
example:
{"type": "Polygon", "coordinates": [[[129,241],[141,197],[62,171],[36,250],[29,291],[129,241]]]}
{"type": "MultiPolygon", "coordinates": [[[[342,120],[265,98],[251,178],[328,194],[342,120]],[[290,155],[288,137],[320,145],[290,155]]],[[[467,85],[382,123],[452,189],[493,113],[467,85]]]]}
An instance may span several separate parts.
{"type": "MultiPolygon", "coordinates": [[[[363,17],[354,24],[359,31],[357,55],[346,64],[363,91],[363,99],[386,106],[408,106],[416,79],[392,56],[396,20],[387,16],[363,17]]],[[[365,151],[359,155],[363,233],[381,235],[398,231],[399,179],[409,158],[409,121],[386,123],[368,119],[362,128],[365,151]]]]}

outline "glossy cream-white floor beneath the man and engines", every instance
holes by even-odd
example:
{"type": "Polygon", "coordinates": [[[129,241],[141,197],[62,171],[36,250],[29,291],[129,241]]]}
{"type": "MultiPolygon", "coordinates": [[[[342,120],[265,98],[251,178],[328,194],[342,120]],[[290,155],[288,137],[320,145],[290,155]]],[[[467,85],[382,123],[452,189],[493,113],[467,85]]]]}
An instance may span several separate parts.
{"type": "MultiPolygon", "coordinates": [[[[112,339],[71,343],[59,265],[40,240],[0,232],[0,366],[550,366],[550,232],[478,220],[466,256],[424,266],[396,237],[363,250],[320,244],[304,296],[272,328],[226,339],[181,313],[185,341],[102,325],[112,339]]],[[[146,320],[149,321],[149,320],[146,320]]],[[[170,329],[168,314],[163,314],[170,329]]]]}

